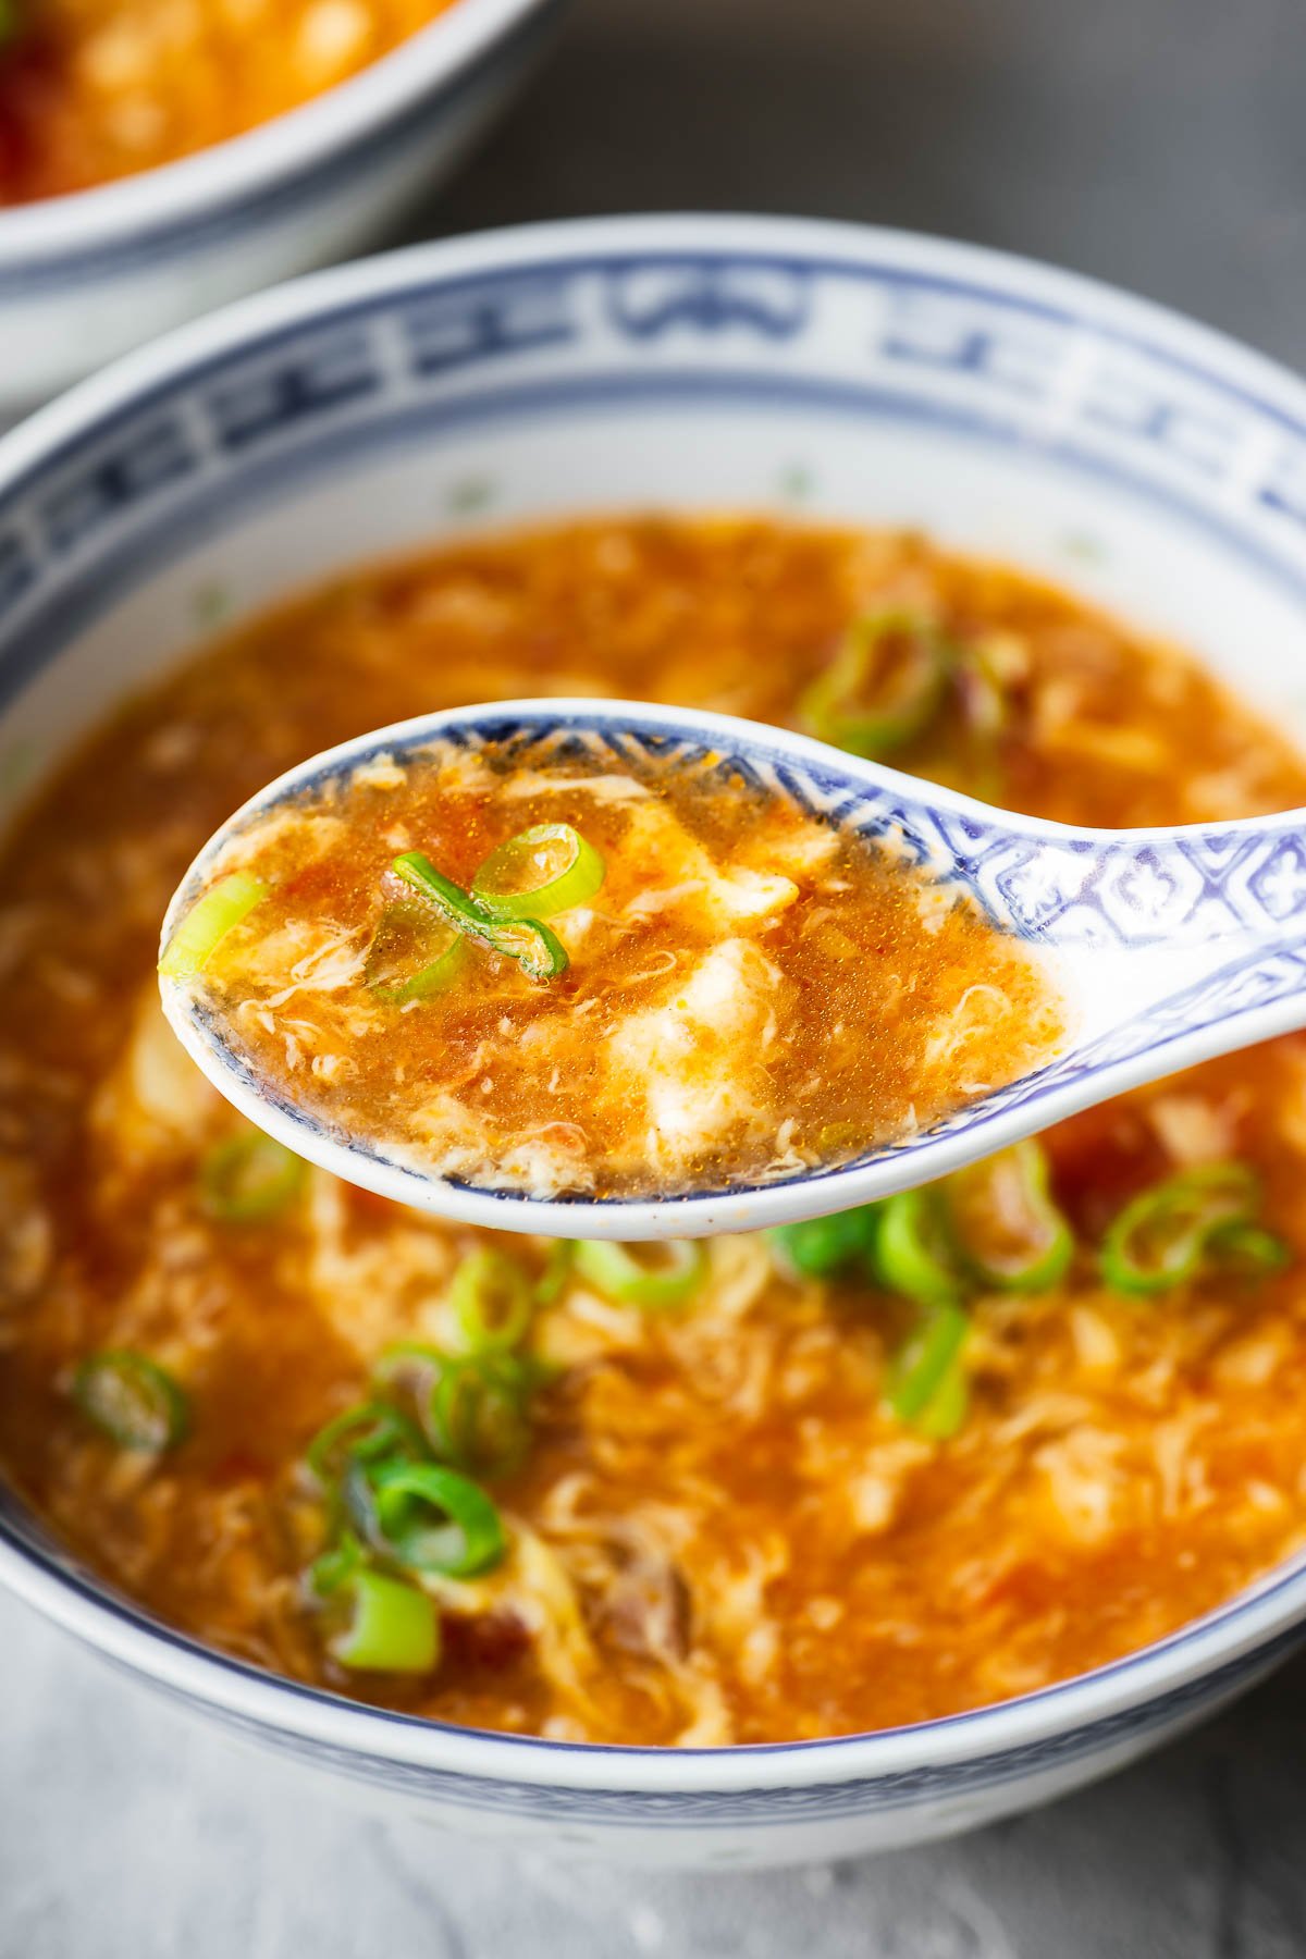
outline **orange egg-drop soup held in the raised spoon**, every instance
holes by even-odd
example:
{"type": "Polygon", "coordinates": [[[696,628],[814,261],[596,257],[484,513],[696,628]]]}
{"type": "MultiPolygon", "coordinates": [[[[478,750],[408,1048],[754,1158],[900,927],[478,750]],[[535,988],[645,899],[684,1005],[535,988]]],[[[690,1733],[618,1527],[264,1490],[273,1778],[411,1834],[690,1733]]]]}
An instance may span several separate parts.
{"type": "Polygon", "coordinates": [[[840,1162],[1059,1032],[1048,978],[956,885],[721,756],[380,754],[241,829],[210,891],[233,878],[262,895],[178,983],[255,1075],[388,1156],[535,1197],[840,1162]],[[403,878],[427,868],[474,931],[521,917],[458,934],[403,878]]]}

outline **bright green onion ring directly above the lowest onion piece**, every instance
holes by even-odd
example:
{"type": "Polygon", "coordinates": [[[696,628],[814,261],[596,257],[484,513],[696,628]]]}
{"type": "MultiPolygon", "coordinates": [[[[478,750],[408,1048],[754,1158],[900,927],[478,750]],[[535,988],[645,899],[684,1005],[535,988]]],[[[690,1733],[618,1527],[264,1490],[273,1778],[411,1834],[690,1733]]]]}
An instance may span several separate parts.
{"type": "Polygon", "coordinates": [[[345,1501],[372,1548],[409,1571],[474,1577],[507,1550],[497,1505],[443,1463],[356,1465],[345,1501]]]}

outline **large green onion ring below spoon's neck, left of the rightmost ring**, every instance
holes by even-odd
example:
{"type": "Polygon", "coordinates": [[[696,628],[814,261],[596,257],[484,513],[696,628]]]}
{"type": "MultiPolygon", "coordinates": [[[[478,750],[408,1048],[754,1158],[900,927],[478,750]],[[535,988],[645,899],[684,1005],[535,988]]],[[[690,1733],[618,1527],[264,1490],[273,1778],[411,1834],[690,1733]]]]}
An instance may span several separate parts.
{"type": "Polygon", "coordinates": [[[944,1179],[948,1230],[969,1273],[1006,1293],[1048,1293],[1065,1277],[1075,1236],[1048,1185],[1038,1142],[1016,1142],[944,1179]]]}

